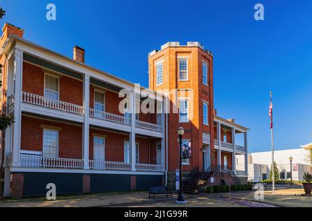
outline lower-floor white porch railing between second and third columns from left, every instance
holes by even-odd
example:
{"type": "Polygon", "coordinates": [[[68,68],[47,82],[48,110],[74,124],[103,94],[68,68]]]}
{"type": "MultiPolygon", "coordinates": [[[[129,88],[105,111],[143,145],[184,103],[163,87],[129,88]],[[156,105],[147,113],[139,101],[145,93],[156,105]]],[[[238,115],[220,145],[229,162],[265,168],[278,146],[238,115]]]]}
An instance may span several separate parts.
{"type": "Polygon", "coordinates": [[[130,163],[89,160],[89,168],[94,170],[130,171],[130,163]]]}

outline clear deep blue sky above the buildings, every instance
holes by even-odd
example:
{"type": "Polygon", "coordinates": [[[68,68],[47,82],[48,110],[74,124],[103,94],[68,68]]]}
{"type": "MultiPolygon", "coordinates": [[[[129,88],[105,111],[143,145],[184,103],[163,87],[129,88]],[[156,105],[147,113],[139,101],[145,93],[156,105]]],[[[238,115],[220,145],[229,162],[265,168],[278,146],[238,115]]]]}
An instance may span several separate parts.
{"type": "Polygon", "coordinates": [[[200,41],[214,52],[214,106],[250,128],[249,151],[270,150],[269,91],[273,91],[275,148],[312,141],[312,1],[62,1],[1,0],[1,20],[24,37],[148,86],[148,52],[167,41],[200,41]],[[57,20],[46,20],[55,3],[57,20]],[[263,3],[265,21],[254,20],[263,3]]]}

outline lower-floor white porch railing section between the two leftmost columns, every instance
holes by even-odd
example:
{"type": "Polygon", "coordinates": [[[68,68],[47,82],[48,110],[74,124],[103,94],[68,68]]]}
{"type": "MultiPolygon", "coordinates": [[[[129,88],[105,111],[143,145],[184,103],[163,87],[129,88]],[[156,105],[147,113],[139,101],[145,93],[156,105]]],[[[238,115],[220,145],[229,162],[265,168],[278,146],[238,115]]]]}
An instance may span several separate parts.
{"type": "Polygon", "coordinates": [[[83,160],[69,158],[53,158],[35,155],[21,155],[21,166],[27,167],[54,167],[54,168],[83,168],[83,160]]]}

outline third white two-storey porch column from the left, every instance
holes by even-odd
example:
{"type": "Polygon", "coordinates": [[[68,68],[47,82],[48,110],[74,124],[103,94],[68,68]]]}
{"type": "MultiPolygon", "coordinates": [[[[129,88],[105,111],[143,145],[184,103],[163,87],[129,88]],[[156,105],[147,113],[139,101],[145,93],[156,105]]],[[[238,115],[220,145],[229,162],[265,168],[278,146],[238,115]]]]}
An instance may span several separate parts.
{"type": "Polygon", "coordinates": [[[136,158],[136,148],[135,148],[135,92],[130,93],[130,107],[131,107],[131,132],[130,132],[130,162],[131,171],[135,171],[135,158],[136,158]]]}

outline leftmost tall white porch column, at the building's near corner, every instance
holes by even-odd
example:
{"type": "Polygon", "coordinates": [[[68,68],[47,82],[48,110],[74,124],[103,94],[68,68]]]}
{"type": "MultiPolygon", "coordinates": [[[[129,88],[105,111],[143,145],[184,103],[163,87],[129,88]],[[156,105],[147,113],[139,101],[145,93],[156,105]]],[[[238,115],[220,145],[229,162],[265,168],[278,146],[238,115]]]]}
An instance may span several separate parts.
{"type": "Polygon", "coordinates": [[[19,155],[21,150],[21,90],[23,81],[23,51],[15,48],[14,53],[14,84],[15,104],[13,124],[12,166],[20,166],[19,155]]]}

